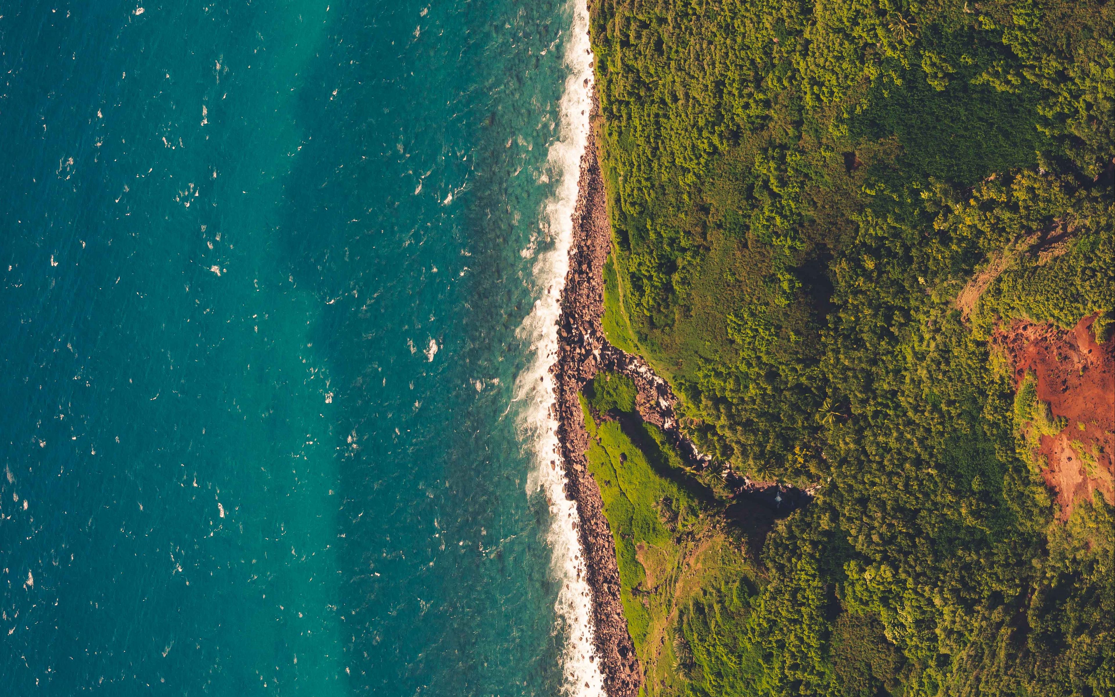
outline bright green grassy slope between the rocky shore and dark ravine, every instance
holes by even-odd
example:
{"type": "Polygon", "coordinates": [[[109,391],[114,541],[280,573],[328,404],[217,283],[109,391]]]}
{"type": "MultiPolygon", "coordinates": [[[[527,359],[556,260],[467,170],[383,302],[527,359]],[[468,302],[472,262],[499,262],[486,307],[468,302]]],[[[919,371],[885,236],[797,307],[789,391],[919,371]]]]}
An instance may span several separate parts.
{"type": "Polygon", "coordinates": [[[602,374],[582,406],[646,694],[749,695],[762,676],[745,636],[755,564],[712,494],[638,419],[623,381],[602,374]]]}

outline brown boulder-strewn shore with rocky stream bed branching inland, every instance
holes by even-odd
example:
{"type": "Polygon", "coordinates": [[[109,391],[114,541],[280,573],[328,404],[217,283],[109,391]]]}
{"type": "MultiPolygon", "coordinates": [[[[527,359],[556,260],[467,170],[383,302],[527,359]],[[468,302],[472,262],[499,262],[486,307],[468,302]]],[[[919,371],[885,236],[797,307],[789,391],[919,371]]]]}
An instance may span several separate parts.
{"type": "MultiPolygon", "coordinates": [[[[638,395],[636,407],[647,423],[662,429],[692,467],[714,466],[681,433],[675,413],[677,398],[669,384],[657,376],[646,360],[612,346],[604,338],[601,318],[604,311],[604,261],[611,251],[611,222],[599,161],[598,128],[600,101],[592,86],[589,133],[581,155],[576,207],[573,212],[573,239],[569,250],[569,271],[561,294],[558,319],[558,351],[550,368],[554,378],[554,416],[561,466],[566,481],[565,497],[574,502],[580,526],[578,536],[584,556],[585,581],[592,600],[593,643],[608,697],[638,697],[642,668],[628,632],[620,601],[620,577],[615,544],[604,517],[600,490],[589,473],[585,452],[589,434],[584,427],[579,393],[599,371],[609,370],[630,377],[638,395]]],[[[733,498],[750,509],[789,511],[808,503],[815,487],[798,490],[774,482],[754,482],[725,465],[720,476],[733,498]],[[785,502],[779,504],[779,502],[785,502]]],[[[769,513],[767,514],[769,515],[769,513]]]]}

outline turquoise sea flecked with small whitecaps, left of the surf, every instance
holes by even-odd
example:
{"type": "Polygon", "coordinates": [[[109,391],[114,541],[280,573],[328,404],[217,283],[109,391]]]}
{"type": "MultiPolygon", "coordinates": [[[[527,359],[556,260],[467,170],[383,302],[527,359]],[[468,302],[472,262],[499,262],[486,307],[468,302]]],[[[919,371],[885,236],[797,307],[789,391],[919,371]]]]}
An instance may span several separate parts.
{"type": "Polygon", "coordinates": [[[0,16],[4,693],[597,689],[523,377],[574,8],[0,16]]]}

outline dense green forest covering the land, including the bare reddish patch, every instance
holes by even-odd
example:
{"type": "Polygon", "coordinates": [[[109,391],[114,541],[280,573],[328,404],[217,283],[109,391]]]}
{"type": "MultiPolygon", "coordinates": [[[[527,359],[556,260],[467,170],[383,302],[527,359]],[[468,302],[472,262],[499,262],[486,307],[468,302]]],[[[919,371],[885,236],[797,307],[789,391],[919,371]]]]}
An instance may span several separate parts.
{"type": "MultiPolygon", "coordinates": [[[[679,606],[647,689],[1115,696],[1111,397],[1041,396],[1061,348],[1064,385],[1115,355],[1115,3],[590,4],[604,331],[702,449],[820,486],[679,606]]],[[[590,401],[601,477],[660,446],[590,401]]],[[[647,539],[682,544],[656,521],[716,506],[653,482],[647,539]]]]}

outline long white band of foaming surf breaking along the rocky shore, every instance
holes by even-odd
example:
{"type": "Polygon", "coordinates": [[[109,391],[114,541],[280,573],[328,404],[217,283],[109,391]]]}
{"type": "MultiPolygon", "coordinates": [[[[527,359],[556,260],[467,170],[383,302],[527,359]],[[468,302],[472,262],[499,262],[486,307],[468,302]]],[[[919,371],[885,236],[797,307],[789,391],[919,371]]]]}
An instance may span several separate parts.
{"type": "Polygon", "coordinates": [[[552,245],[541,253],[533,269],[537,300],[518,328],[518,336],[531,341],[533,359],[515,383],[515,399],[524,407],[518,427],[534,451],[535,467],[527,480],[527,492],[542,490],[550,502],[553,549],[552,572],[561,583],[555,610],[558,627],[566,638],[563,649],[563,691],[569,697],[603,697],[603,676],[594,652],[592,597],[585,581],[584,555],[576,527],[576,506],[565,500],[562,487],[558,422],[554,418],[554,379],[550,375],[558,351],[558,318],[561,291],[569,270],[569,250],[573,239],[573,212],[576,206],[581,155],[589,134],[592,54],[589,45],[589,10],[585,0],[570,0],[572,27],[565,46],[565,66],[570,74],[561,99],[561,130],[550,147],[547,168],[556,188],[546,203],[542,229],[552,245]]]}

